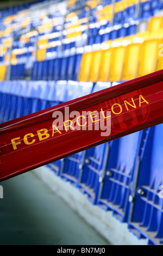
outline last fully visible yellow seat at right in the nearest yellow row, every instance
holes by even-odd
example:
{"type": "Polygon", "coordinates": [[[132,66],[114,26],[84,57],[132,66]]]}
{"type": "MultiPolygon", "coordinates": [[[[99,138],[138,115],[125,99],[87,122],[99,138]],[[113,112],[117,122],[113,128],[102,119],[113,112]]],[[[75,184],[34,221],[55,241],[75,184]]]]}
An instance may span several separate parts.
{"type": "Polygon", "coordinates": [[[138,77],[147,75],[156,70],[159,42],[159,39],[151,39],[143,42],[138,77]]]}

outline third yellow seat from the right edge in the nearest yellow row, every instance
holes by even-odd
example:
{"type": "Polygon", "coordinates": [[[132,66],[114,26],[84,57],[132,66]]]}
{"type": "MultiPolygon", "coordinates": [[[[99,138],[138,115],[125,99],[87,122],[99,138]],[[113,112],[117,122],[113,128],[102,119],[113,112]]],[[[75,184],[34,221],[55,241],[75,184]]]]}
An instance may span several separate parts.
{"type": "Polygon", "coordinates": [[[142,44],[130,44],[126,47],[123,74],[121,78],[122,81],[131,80],[137,77],[142,44]]]}

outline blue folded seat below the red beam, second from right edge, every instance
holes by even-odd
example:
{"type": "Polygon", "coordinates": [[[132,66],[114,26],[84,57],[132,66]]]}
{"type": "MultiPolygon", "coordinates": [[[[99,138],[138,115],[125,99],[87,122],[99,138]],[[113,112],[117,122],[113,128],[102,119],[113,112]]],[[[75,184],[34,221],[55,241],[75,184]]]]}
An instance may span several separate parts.
{"type": "Polygon", "coordinates": [[[112,210],[113,215],[122,222],[128,221],[130,184],[141,136],[142,132],[135,132],[111,141],[106,168],[102,174],[98,205],[104,210],[112,210]]]}

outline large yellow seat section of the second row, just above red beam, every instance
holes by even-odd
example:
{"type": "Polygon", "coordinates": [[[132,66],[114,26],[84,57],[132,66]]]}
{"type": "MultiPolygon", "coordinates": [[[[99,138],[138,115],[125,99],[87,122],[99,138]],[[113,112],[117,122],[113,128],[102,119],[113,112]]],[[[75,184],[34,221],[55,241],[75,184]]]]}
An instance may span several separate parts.
{"type": "Polygon", "coordinates": [[[78,80],[127,81],[162,69],[161,32],[137,33],[105,42],[105,50],[83,53],[78,80]]]}

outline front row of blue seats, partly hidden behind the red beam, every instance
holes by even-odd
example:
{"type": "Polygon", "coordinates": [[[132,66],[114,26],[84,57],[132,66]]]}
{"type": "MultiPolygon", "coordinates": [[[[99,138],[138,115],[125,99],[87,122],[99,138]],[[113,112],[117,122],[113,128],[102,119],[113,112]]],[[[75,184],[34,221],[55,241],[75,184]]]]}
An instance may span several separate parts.
{"type": "MultiPolygon", "coordinates": [[[[0,83],[1,122],[116,86],[110,82],[5,81],[0,83]]],[[[162,136],[153,126],[48,164],[87,199],[128,223],[149,245],[163,242],[162,136]],[[150,159],[150,161],[149,161],[150,159]]]]}

